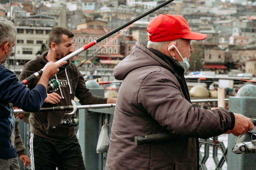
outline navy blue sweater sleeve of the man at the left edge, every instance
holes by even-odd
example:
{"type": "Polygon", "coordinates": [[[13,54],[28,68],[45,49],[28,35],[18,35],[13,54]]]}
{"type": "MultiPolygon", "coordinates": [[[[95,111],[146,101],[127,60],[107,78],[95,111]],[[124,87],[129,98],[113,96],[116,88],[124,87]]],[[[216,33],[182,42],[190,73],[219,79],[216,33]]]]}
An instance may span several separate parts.
{"type": "Polygon", "coordinates": [[[0,70],[1,100],[13,103],[26,112],[38,112],[47,97],[46,89],[38,84],[30,90],[18,81],[16,75],[8,69],[0,70]]]}

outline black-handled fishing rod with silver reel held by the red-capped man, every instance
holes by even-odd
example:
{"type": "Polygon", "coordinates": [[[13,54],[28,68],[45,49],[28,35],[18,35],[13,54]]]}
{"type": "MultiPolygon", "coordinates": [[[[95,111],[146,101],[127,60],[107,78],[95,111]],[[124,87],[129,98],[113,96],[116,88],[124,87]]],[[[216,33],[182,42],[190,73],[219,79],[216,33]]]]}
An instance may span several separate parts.
{"type": "MultiPolygon", "coordinates": [[[[253,119],[251,121],[256,126],[256,119],[253,119]]],[[[175,137],[176,136],[174,134],[168,133],[168,132],[166,132],[166,133],[157,133],[157,134],[152,134],[152,135],[145,135],[145,136],[139,135],[139,136],[134,137],[134,142],[135,142],[136,145],[143,145],[143,144],[149,144],[149,143],[152,143],[152,142],[167,141],[167,140],[175,139],[175,137]]],[[[240,137],[240,138],[244,139],[245,137],[240,137]]],[[[238,141],[236,142],[236,144],[237,143],[238,143],[238,141]]],[[[241,143],[241,140],[240,140],[240,143],[241,143]]],[[[256,140],[254,141],[253,144],[254,144],[254,147],[251,147],[251,145],[252,145],[251,144],[250,148],[254,148],[254,152],[256,152],[256,140]]],[[[239,145],[239,147],[240,146],[245,146],[245,144],[243,143],[243,145],[239,145]]],[[[237,148],[239,148],[239,147],[236,147],[234,149],[234,147],[232,149],[233,152],[234,152],[234,150],[238,150],[237,148]]],[[[244,153],[245,153],[245,151],[244,151],[244,153]]]]}

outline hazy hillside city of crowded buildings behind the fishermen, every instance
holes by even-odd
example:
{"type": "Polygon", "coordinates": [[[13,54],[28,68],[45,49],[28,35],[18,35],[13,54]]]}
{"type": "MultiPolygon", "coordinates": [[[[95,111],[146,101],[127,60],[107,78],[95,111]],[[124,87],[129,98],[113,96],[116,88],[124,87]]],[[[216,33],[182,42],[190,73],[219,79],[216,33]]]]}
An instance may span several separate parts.
{"type": "MultiPolygon", "coordinates": [[[[54,26],[72,30],[77,50],[163,2],[0,0],[0,18],[12,20],[17,28],[16,44],[6,66],[14,71],[22,69],[46,51],[48,33],[54,26]]],[[[163,13],[182,15],[191,31],[207,34],[205,40],[192,41],[189,72],[237,70],[256,76],[255,0],[175,0],[134,22],[119,36],[122,30],[81,52],[74,62],[83,63],[80,69],[84,75],[111,76],[136,41],[147,44],[147,24],[163,13]]]]}

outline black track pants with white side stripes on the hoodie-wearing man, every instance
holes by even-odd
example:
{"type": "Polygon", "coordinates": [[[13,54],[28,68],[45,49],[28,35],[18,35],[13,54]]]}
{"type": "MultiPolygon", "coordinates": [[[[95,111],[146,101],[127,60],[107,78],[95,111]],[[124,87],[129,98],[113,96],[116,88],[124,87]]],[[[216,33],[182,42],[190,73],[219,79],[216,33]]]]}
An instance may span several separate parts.
{"type": "Polygon", "coordinates": [[[68,140],[49,140],[30,133],[31,170],[85,170],[76,136],[68,140]]]}

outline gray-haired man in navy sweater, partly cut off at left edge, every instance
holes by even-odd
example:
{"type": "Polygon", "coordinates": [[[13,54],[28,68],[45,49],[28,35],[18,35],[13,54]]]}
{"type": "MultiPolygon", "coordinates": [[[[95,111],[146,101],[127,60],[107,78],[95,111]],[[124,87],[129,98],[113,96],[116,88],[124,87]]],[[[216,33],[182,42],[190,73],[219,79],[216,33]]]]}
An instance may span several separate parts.
{"type": "Polygon", "coordinates": [[[0,19],[0,165],[1,169],[12,170],[19,170],[14,145],[15,119],[12,105],[27,112],[38,112],[47,97],[49,78],[59,71],[59,66],[67,63],[47,63],[37,86],[30,90],[3,66],[12,53],[16,33],[11,21],[0,19]]]}

